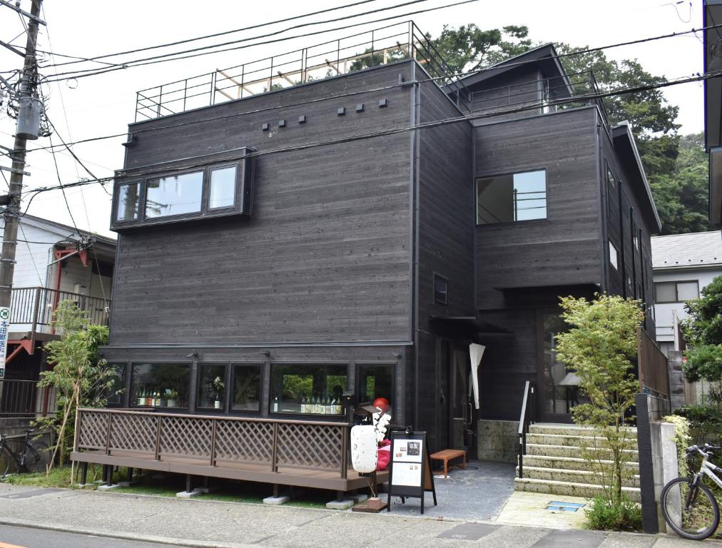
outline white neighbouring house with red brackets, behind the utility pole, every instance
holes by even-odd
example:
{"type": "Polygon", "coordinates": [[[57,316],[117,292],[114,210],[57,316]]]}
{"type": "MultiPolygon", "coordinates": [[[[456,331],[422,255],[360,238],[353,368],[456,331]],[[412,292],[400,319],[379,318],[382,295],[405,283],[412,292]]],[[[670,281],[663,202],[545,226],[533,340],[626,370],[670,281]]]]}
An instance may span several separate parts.
{"type": "Polygon", "coordinates": [[[1,414],[52,406],[51,394],[36,393],[34,383],[47,367],[43,345],[58,339],[51,325],[58,303],[73,300],[93,323],[108,324],[116,241],[79,232],[27,214],[19,221],[1,414]]]}

